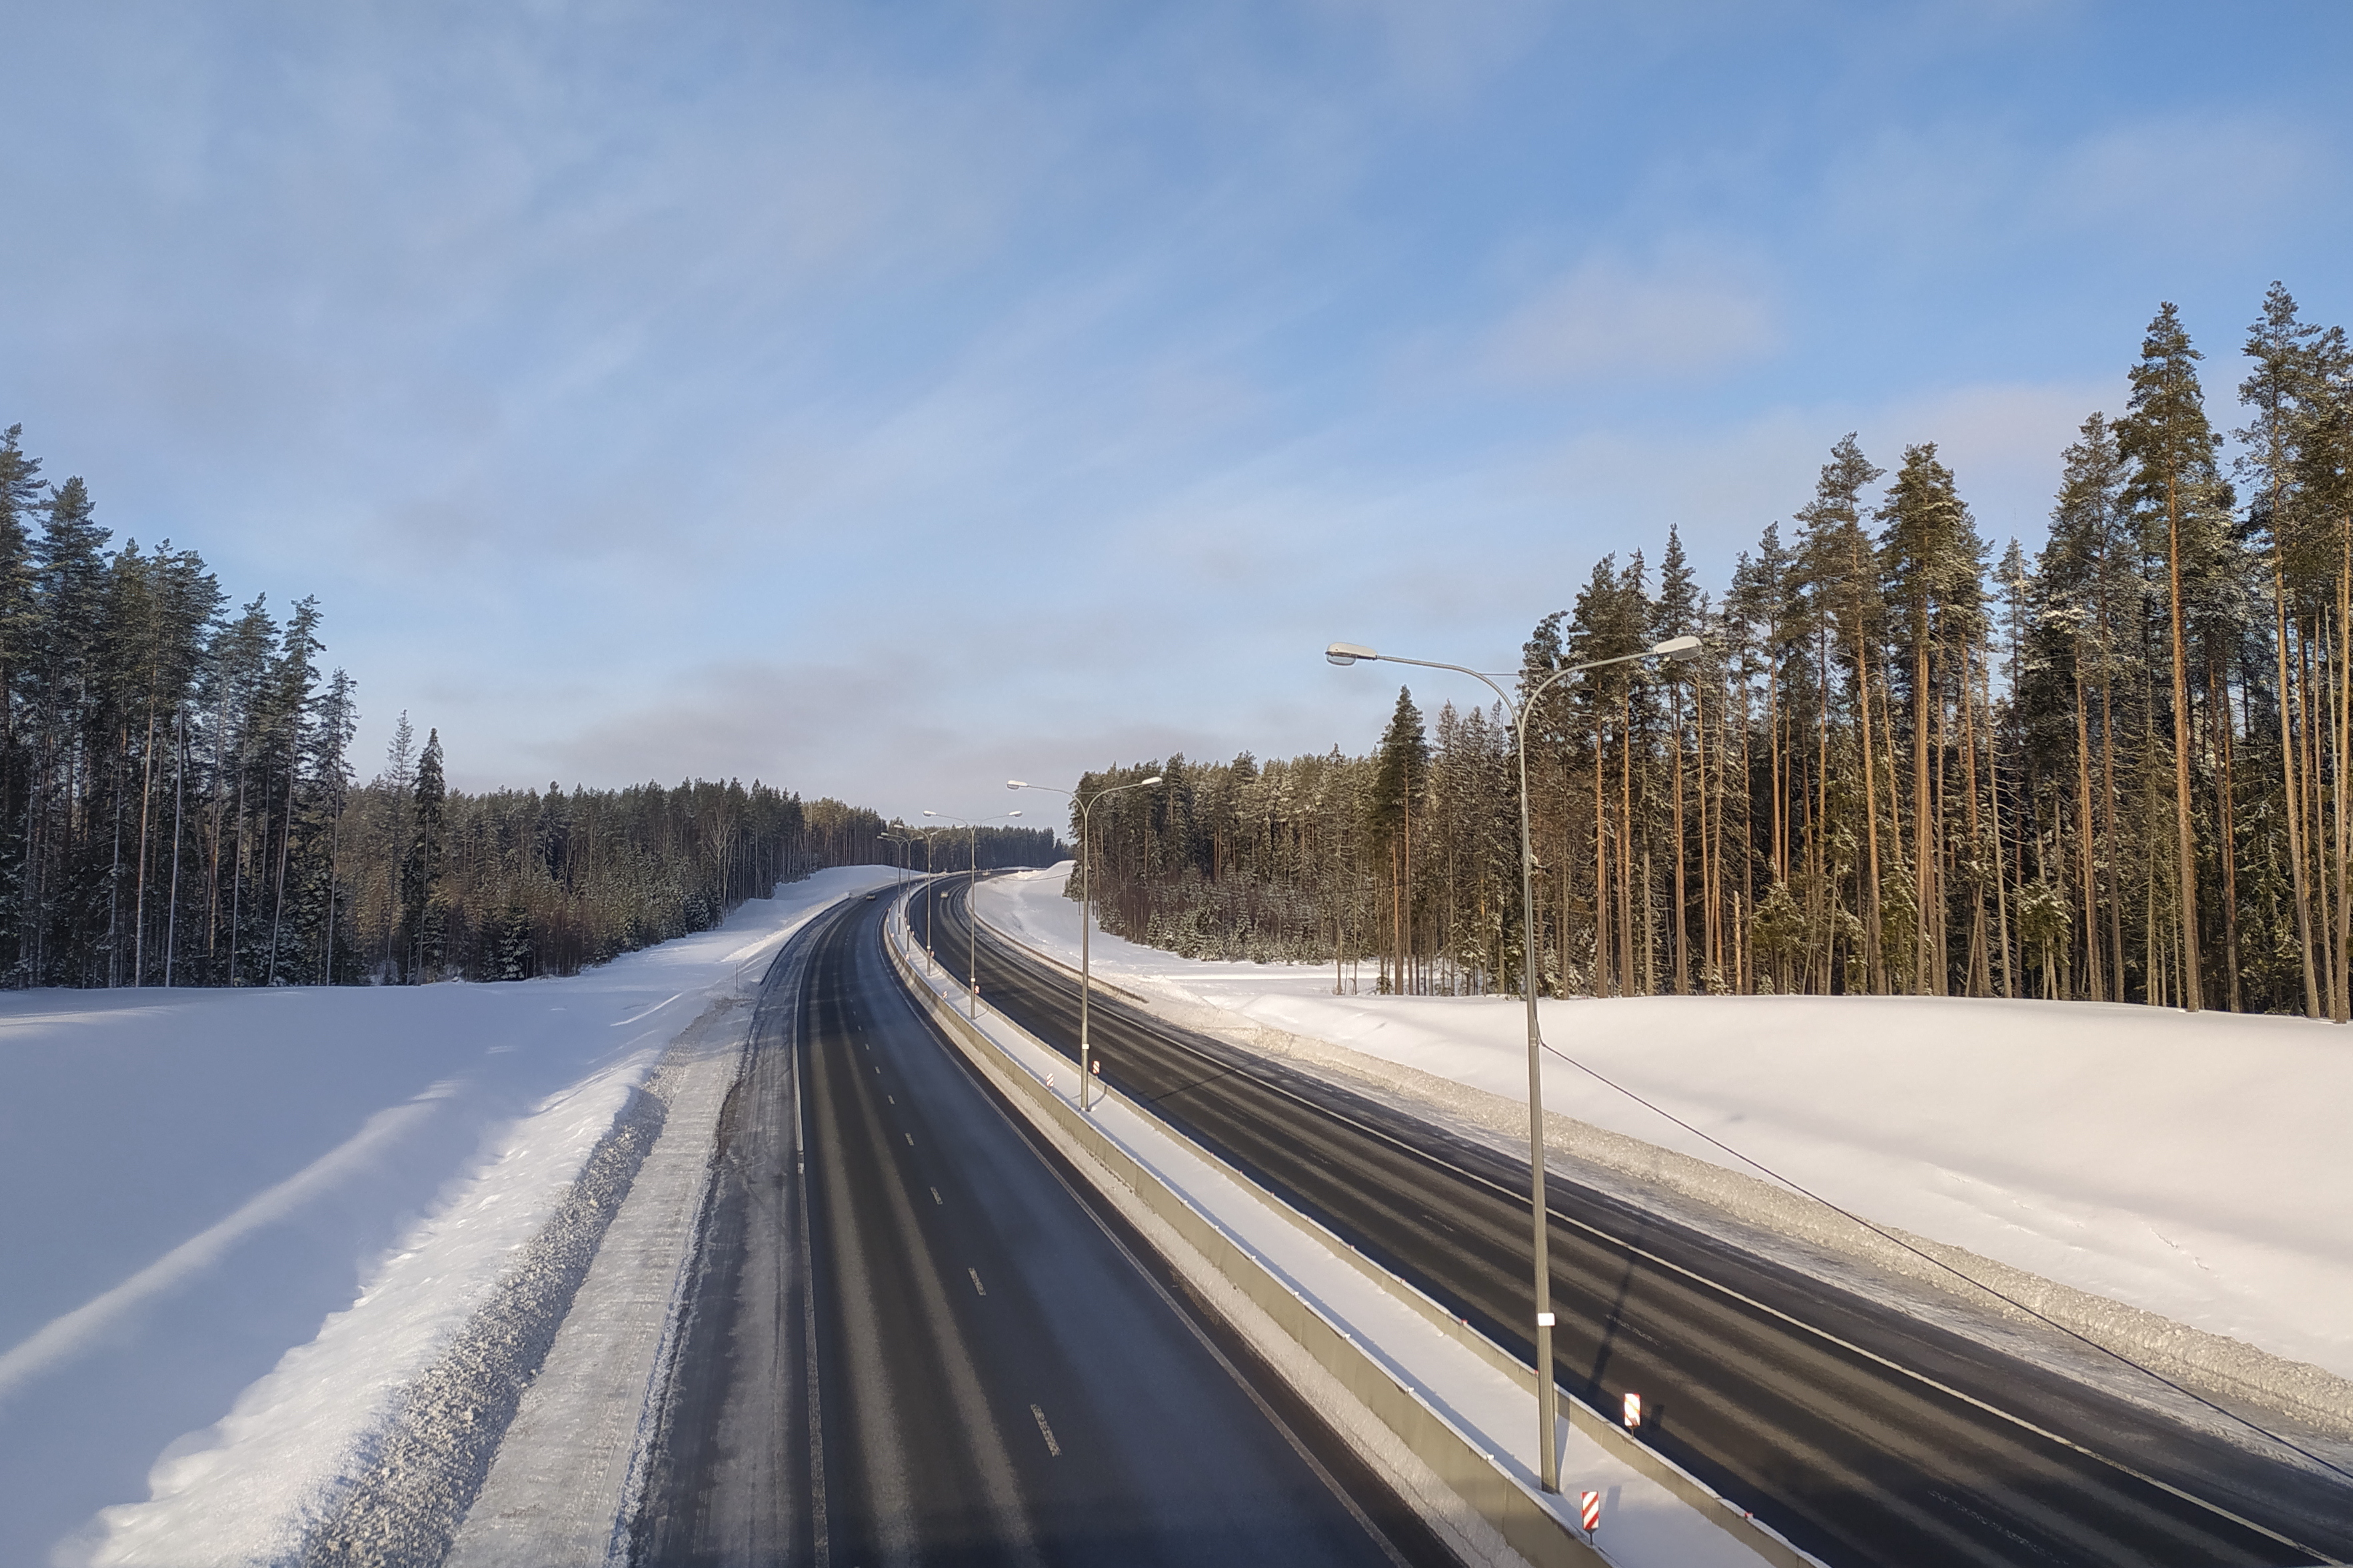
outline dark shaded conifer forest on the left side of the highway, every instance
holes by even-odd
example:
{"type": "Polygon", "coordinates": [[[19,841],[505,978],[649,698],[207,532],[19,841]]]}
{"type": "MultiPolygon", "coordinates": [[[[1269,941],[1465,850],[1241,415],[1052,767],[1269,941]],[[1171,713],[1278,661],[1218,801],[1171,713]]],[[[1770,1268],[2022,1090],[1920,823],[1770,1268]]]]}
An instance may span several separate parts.
{"type": "MultiPolygon", "coordinates": [[[[407,715],[358,783],[315,599],[231,614],[198,552],[108,543],[89,487],[0,433],[0,983],[576,973],[913,832],[765,783],[466,795],[407,715]]],[[[979,837],[984,865],[1054,853],[979,837]]]]}

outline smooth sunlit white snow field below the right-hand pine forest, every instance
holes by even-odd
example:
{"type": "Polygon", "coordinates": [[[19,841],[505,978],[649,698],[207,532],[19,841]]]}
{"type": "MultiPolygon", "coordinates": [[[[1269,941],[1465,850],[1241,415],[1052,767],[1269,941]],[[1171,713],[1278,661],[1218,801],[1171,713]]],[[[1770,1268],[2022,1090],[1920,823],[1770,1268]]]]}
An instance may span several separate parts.
{"type": "MultiPolygon", "coordinates": [[[[1078,964],[1071,865],[979,886],[1078,964]]],[[[1101,931],[1094,973],[1527,1103],[1518,997],[1337,997],[1329,966],[1217,964],[1101,931]]],[[[1544,1037],[1878,1225],[2353,1378],[2353,1030],[1946,997],[1544,1001],[1544,1037]]],[[[1755,1175],[1567,1063],[1544,1105],[1755,1175]]]]}

